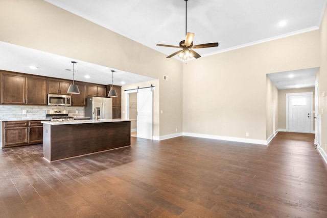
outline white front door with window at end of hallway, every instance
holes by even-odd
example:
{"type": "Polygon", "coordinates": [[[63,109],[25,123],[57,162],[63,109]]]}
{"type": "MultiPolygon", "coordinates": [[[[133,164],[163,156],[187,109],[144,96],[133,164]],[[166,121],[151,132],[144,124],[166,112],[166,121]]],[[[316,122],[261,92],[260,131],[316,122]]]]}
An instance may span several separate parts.
{"type": "Polygon", "coordinates": [[[312,94],[288,94],[288,131],[312,131],[312,94]]]}

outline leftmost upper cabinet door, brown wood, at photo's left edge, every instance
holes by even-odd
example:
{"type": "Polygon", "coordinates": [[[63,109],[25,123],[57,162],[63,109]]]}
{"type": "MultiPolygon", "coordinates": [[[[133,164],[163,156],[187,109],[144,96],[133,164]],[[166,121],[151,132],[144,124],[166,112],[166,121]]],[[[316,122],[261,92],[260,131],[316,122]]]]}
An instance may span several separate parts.
{"type": "Polygon", "coordinates": [[[25,76],[8,75],[2,76],[3,104],[25,104],[25,76]]]}

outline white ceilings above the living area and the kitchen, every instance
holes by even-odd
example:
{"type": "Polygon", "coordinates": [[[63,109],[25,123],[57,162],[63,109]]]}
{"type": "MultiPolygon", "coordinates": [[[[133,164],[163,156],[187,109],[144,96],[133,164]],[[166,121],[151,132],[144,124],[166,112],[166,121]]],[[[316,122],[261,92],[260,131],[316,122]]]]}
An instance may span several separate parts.
{"type": "MultiPolygon", "coordinates": [[[[64,10],[104,26],[142,43],[167,56],[176,48],[156,46],[178,45],[185,37],[185,2],[183,0],[45,0],[64,10]]],[[[327,0],[189,0],[188,32],[195,33],[194,44],[219,42],[219,47],[201,48],[201,56],[212,55],[251,44],[317,30],[327,0]],[[279,22],[286,21],[285,26],[279,22]]],[[[69,57],[0,43],[0,69],[72,78],[69,57]],[[6,50],[4,50],[6,49],[6,50]],[[10,56],[8,56],[10,53],[10,56]],[[31,55],[32,53],[32,55],[31,55]],[[5,59],[4,59],[5,58],[5,59]],[[38,70],[28,71],[34,65],[38,70]]],[[[111,84],[110,68],[74,60],[76,80],[111,84]],[[85,79],[86,73],[92,77],[85,79]],[[85,73],[84,73],[85,72],[85,73]]],[[[113,69],[114,84],[121,85],[152,80],[113,69]],[[120,77],[121,76],[121,77],[120,77]],[[128,78],[131,78],[129,81],[128,78]]],[[[278,79],[277,79],[278,80],[278,79]]],[[[297,82],[298,83],[298,82],[297,82]]]]}

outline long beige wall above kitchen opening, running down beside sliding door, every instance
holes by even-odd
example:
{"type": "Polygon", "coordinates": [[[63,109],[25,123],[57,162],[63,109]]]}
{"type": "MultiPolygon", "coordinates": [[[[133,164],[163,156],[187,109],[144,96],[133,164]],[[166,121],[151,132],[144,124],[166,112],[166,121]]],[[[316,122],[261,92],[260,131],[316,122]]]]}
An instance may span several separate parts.
{"type": "Polygon", "coordinates": [[[165,114],[154,112],[159,119],[156,134],[181,130],[180,61],[42,0],[1,0],[0,30],[0,41],[158,79],[158,101],[165,114]],[[164,75],[170,80],[163,80],[164,75]]]}

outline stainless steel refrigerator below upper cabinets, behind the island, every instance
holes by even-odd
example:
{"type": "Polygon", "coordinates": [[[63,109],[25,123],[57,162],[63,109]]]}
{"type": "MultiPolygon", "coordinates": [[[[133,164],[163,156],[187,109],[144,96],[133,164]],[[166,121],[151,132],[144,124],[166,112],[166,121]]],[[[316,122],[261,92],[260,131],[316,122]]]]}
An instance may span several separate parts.
{"type": "Polygon", "coordinates": [[[98,113],[98,119],[112,119],[112,99],[87,97],[85,117],[90,117],[92,120],[96,120],[96,112],[98,113]]]}

